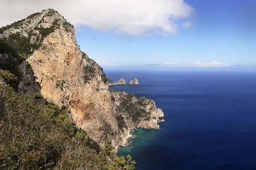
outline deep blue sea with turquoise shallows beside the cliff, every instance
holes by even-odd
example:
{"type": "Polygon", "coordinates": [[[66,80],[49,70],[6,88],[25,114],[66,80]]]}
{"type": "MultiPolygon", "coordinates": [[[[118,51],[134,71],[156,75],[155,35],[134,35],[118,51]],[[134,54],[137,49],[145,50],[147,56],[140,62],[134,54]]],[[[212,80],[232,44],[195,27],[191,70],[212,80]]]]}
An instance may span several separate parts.
{"type": "Polygon", "coordinates": [[[118,155],[136,169],[256,169],[256,73],[106,71],[111,86],[145,96],[164,111],[159,130],[137,129],[118,155]]]}

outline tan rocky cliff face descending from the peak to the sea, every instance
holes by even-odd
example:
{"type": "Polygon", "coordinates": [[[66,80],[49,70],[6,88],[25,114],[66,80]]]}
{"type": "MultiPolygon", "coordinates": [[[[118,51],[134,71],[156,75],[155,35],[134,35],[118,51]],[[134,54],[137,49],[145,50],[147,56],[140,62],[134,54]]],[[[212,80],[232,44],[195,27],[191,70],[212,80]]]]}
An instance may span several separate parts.
{"type": "Polygon", "coordinates": [[[25,50],[13,46],[24,59],[20,93],[41,92],[47,101],[67,107],[70,120],[100,145],[118,148],[131,129],[159,129],[163,111],[150,99],[110,89],[102,68],[79,50],[73,26],[58,12],[43,10],[3,27],[0,39],[10,46],[19,39],[28,44],[25,50]]]}

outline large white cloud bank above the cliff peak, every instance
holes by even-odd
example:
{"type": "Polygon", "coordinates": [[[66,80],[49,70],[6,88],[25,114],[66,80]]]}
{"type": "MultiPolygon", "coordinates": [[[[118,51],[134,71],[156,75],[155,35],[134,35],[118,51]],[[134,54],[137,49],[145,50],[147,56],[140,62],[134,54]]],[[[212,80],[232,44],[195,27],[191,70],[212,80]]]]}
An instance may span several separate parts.
{"type": "Polygon", "coordinates": [[[144,36],[174,34],[182,26],[177,20],[188,20],[195,11],[183,0],[1,0],[0,26],[47,8],[59,11],[75,26],[144,36]]]}

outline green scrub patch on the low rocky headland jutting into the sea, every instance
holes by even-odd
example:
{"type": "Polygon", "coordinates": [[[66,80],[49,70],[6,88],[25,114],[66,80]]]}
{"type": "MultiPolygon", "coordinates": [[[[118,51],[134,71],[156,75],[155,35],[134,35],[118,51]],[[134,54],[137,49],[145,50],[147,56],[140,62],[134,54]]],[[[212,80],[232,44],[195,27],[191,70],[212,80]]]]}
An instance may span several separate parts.
{"type": "MultiPolygon", "coordinates": [[[[131,103],[131,99],[134,97],[134,94],[128,94],[128,95],[123,95],[121,97],[121,103],[118,108],[119,111],[128,111],[128,116],[132,118],[132,121],[138,122],[139,118],[143,117],[146,118],[146,120],[149,119],[149,114],[147,111],[143,110],[139,106],[142,103],[142,101],[138,101],[138,103],[131,103]]],[[[143,100],[143,99],[141,99],[143,100]]],[[[143,106],[143,105],[142,105],[143,106]]]]}

